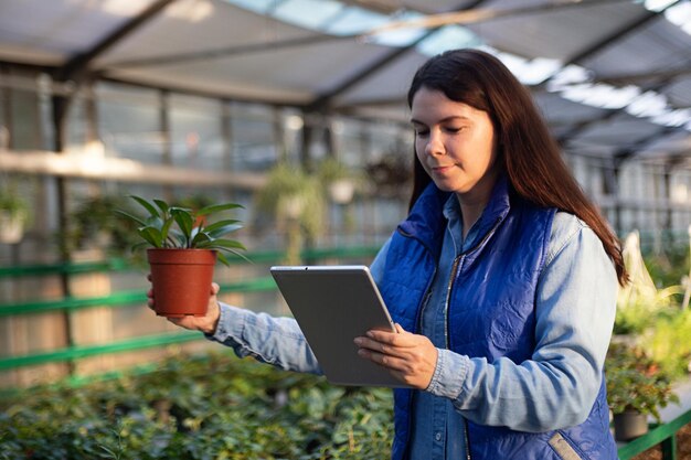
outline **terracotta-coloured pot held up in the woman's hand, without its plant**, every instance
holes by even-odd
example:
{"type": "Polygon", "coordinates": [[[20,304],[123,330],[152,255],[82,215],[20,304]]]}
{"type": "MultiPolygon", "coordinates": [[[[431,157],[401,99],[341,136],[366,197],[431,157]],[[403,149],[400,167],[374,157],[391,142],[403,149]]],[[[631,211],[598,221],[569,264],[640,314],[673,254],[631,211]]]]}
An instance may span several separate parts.
{"type": "Polygon", "coordinates": [[[159,317],[203,317],[209,306],[216,253],[211,249],[147,249],[159,317]]]}

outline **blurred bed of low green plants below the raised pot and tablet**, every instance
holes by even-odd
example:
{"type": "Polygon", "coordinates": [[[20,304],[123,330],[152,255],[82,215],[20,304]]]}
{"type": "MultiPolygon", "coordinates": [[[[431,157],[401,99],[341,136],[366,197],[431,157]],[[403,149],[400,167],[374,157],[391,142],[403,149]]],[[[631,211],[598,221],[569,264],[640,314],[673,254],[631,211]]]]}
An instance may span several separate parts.
{"type": "Polygon", "coordinates": [[[380,459],[392,394],[228,353],[173,356],[143,376],[0,400],[0,459],[380,459]]]}

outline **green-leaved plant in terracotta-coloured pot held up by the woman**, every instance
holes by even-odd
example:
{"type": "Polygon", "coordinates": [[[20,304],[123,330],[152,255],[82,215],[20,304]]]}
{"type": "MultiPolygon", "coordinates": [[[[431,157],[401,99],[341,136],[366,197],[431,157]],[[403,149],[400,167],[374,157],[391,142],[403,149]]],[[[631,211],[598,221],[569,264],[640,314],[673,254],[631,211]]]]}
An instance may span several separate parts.
{"type": "Polygon", "coordinates": [[[139,225],[137,233],[143,240],[134,249],[148,246],[156,313],[162,317],[204,315],[216,259],[228,265],[225,254],[244,258],[240,250],[245,249],[240,242],[224,238],[242,228],[240,221],[209,223],[208,220],[242,206],[224,203],[193,211],[171,206],[162,200],[131,197],[147,212],[146,217],[123,210],[116,212],[139,225]]]}

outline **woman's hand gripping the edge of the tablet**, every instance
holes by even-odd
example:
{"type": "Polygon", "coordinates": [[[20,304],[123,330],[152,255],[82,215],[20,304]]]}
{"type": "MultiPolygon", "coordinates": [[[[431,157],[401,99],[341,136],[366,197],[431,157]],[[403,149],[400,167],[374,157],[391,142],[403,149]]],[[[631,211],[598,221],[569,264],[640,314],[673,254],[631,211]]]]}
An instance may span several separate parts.
{"type": "Polygon", "coordinates": [[[406,332],[400,324],[396,331],[371,330],[355,338],[358,354],[389,368],[406,385],[427,388],[437,366],[436,346],[425,335],[406,332]]]}

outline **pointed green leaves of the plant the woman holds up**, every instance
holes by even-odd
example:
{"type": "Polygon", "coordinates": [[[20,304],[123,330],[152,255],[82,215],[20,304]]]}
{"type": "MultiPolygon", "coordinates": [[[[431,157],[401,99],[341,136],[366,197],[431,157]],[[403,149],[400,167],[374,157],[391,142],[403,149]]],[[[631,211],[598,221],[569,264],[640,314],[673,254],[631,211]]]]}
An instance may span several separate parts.
{"type": "MultiPolygon", "coordinates": [[[[131,199],[147,211],[146,217],[139,217],[125,210],[116,210],[116,213],[139,225],[137,233],[143,242],[135,248],[148,245],[155,248],[214,249],[244,258],[238,250],[244,250],[245,247],[235,239],[223,237],[242,228],[240,221],[222,220],[213,224],[206,222],[214,214],[243,207],[242,205],[223,203],[192,210],[171,206],[157,199],[147,201],[135,195],[131,195],[131,199]]],[[[221,253],[219,253],[219,260],[228,265],[227,259],[221,253]]]]}

